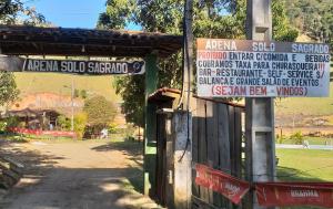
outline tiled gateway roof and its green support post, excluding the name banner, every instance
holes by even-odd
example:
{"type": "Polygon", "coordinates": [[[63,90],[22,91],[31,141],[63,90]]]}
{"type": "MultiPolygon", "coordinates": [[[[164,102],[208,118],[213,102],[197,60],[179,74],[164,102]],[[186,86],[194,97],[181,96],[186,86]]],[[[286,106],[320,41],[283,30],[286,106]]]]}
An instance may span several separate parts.
{"type": "MultiPolygon", "coordinates": [[[[133,31],[62,28],[0,27],[0,49],[6,55],[61,55],[140,58],[145,61],[145,98],[157,90],[159,58],[182,48],[182,36],[133,31]]],[[[154,196],[157,138],[155,105],[145,107],[144,194],[154,196]]]]}

